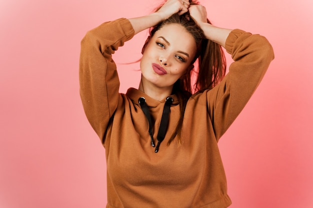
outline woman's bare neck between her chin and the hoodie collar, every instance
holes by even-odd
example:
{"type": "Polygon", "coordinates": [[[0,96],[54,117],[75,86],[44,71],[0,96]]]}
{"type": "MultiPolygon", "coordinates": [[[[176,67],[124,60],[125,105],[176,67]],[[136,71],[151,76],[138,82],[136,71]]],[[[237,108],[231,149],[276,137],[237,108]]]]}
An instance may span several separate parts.
{"type": "Polygon", "coordinates": [[[138,90],[144,92],[149,97],[153,98],[154,100],[162,100],[165,97],[171,95],[173,86],[169,87],[157,87],[151,83],[145,82],[144,80],[140,80],[138,90]]]}

